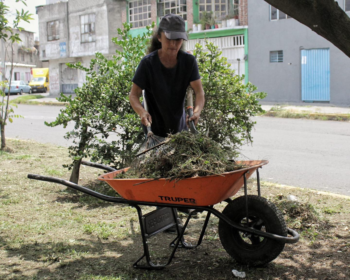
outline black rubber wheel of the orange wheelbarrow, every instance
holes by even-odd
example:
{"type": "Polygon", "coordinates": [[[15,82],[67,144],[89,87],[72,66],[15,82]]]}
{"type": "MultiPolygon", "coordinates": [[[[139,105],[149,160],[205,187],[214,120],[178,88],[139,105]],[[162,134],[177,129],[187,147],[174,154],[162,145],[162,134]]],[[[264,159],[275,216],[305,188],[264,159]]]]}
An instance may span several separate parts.
{"type": "MultiPolygon", "coordinates": [[[[249,227],[287,236],[287,225],[280,210],[266,198],[248,195],[249,227]]],[[[222,214],[240,225],[246,224],[245,197],[232,200],[222,214]]],[[[252,266],[264,265],[282,252],[285,244],[269,238],[234,229],[222,219],[219,237],[226,252],[238,263],[252,266]]]]}

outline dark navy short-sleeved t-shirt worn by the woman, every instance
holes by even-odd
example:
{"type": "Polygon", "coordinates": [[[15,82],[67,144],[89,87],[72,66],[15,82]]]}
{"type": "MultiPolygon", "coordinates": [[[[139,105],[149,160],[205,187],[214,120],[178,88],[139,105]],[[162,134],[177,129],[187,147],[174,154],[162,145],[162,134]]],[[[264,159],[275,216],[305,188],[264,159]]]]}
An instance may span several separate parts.
{"type": "MultiPolygon", "coordinates": [[[[166,68],[158,50],[141,59],[132,82],[141,87],[152,117],[152,132],[160,137],[187,130],[184,102],[190,82],[200,79],[195,56],[177,54],[174,68],[166,68]]],[[[147,130],[146,130],[147,131],[147,130]]]]}

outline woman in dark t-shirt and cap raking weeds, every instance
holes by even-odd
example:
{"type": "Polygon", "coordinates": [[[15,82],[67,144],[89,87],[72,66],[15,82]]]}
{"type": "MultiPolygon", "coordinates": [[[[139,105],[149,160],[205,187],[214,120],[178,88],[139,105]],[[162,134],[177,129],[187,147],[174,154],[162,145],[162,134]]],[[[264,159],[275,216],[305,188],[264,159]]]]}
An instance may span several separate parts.
{"type": "MultiPolygon", "coordinates": [[[[141,59],[132,79],[129,100],[141,118],[146,135],[148,122],[152,132],[160,137],[187,130],[188,121],[198,123],[204,106],[204,91],[196,58],[183,51],[183,40],[187,41],[183,18],[176,14],[163,16],[151,39],[148,54],[141,59]],[[195,94],[194,112],[190,118],[184,110],[188,85],[195,94]],[[148,112],[140,103],[142,90],[148,112]]],[[[189,214],[193,210],[179,211],[189,214]]],[[[175,226],[168,231],[176,232],[175,226]]]]}

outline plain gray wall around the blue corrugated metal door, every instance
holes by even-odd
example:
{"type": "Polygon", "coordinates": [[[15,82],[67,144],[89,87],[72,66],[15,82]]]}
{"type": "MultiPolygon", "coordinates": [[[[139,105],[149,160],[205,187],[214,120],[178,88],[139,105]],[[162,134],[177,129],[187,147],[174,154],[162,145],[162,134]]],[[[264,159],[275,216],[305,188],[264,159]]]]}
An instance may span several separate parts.
{"type": "Polygon", "coordinates": [[[301,102],[301,48],[329,48],[330,103],[350,105],[350,58],[332,43],[292,18],[270,21],[263,0],[248,1],[248,22],[248,78],[267,92],[264,101],[301,102]],[[283,62],[270,63],[276,50],[283,62]]]}

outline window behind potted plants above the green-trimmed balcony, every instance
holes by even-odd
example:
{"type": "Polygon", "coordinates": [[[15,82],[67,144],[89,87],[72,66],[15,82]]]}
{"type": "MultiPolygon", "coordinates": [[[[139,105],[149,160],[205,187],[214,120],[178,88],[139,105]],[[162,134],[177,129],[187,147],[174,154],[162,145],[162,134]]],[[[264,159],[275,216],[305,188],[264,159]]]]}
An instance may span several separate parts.
{"type": "Polygon", "coordinates": [[[200,0],[199,13],[202,18],[203,12],[213,12],[214,17],[221,18],[225,15],[238,15],[238,0],[232,0],[233,6],[229,10],[229,0],[200,0]]]}

